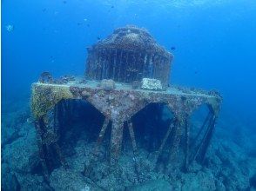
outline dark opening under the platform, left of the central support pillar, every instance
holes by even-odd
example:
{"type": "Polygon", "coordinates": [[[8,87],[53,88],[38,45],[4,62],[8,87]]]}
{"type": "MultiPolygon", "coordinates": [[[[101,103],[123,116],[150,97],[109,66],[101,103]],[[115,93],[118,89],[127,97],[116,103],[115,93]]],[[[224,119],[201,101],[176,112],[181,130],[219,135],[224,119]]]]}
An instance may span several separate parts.
{"type": "MultiPolygon", "coordinates": [[[[64,100],[58,103],[60,146],[74,148],[78,140],[96,142],[104,115],[84,100],[64,100]]],[[[70,153],[71,154],[71,153],[70,153]]]]}

